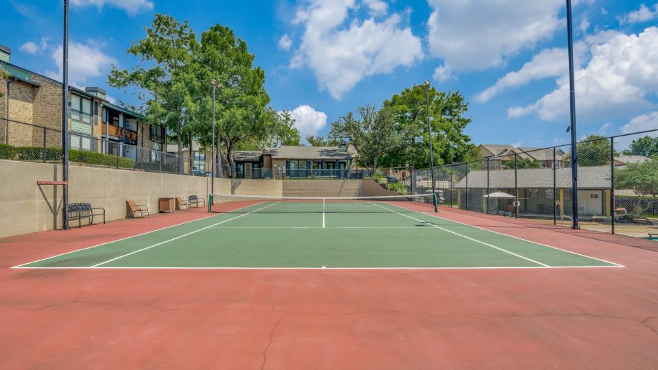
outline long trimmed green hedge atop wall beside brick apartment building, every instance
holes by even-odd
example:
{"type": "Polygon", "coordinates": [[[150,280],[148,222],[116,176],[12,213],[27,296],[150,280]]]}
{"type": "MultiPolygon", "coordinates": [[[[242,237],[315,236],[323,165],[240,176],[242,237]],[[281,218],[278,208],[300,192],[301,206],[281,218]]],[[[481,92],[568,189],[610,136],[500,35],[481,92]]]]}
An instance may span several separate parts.
{"type": "MultiPolygon", "coordinates": [[[[0,158],[26,161],[41,161],[44,159],[47,162],[60,161],[62,160],[62,149],[47,147],[44,158],[43,147],[12,147],[11,145],[0,145],[0,158]]],[[[119,157],[117,163],[117,156],[97,153],[96,151],[69,149],[69,160],[71,162],[99,164],[109,167],[117,167],[118,165],[123,169],[135,168],[135,161],[130,158],[119,157]]]]}

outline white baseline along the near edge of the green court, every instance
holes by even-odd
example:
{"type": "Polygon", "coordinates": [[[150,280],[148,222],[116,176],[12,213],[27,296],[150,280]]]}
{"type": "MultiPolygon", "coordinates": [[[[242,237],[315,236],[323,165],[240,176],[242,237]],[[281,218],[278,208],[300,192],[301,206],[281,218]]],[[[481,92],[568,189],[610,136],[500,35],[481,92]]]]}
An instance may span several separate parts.
{"type": "Polygon", "coordinates": [[[50,270],[517,270],[517,269],[618,269],[623,266],[499,266],[499,267],[20,267],[50,270]]]}

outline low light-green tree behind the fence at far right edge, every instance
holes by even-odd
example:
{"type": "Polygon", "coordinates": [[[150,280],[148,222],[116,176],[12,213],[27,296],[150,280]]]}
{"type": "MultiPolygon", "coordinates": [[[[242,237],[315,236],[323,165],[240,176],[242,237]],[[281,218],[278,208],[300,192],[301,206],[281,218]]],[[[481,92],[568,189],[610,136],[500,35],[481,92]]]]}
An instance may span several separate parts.
{"type": "Polygon", "coordinates": [[[635,213],[642,214],[642,199],[645,197],[658,197],[658,160],[648,160],[642,163],[631,163],[624,169],[615,173],[615,187],[631,189],[638,195],[635,213]]]}

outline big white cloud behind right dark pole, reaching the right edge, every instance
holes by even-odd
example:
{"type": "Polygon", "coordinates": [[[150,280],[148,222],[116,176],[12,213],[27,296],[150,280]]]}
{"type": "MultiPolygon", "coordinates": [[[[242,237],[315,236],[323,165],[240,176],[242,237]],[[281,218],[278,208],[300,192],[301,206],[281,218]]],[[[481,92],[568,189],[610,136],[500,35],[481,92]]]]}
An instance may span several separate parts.
{"type": "MultiPolygon", "coordinates": [[[[585,121],[608,119],[653,106],[647,95],[658,93],[658,28],[640,34],[604,32],[587,38],[592,58],[577,68],[576,113],[585,121]]],[[[517,118],[537,113],[554,121],[568,116],[569,79],[562,75],[557,88],[535,103],[512,107],[508,116],[517,118]]]]}

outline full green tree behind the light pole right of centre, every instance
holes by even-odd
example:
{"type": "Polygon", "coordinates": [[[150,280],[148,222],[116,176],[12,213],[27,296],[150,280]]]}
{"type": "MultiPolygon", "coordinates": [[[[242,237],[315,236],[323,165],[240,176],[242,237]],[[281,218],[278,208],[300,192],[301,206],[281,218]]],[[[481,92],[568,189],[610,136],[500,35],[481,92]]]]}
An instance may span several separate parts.
{"type": "MultiPolygon", "coordinates": [[[[480,158],[477,147],[463,130],[470,123],[464,114],[468,103],[459,91],[454,93],[428,88],[432,149],[435,165],[463,162],[480,158]]],[[[384,105],[395,114],[395,130],[402,136],[403,145],[387,153],[383,162],[387,167],[429,167],[427,108],[424,88],[406,88],[393,95],[384,105]]]]}

